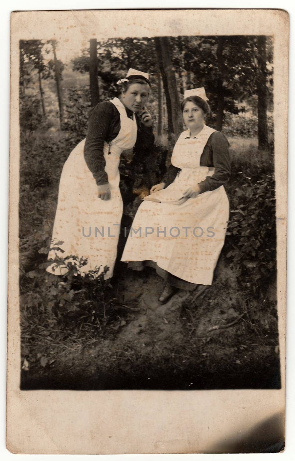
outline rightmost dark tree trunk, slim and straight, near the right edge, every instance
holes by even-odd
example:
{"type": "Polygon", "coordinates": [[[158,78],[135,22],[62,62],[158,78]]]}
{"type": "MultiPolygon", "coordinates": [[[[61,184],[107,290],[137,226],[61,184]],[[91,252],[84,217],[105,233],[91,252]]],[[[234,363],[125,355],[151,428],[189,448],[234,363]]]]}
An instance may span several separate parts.
{"type": "Polygon", "coordinates": [[[257,115],[258,115],[258,148],[267,150],[268,144],[268,129],[267,129],[267,75],[266,75],[266,37],[260,35],[258,37],[258,72],[257,81],[257,115]]]}

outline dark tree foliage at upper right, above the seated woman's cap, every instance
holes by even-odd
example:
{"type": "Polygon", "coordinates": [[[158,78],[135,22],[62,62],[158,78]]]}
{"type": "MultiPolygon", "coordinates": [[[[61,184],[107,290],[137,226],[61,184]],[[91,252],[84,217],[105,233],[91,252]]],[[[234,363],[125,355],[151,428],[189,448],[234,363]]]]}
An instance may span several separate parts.
{"type": "MultiPolygon", "coordinates": [[[[257,36],[232,35],[222,37],[222,63],[218,62],[217,47],[221,37],[172,37],[172,60],[176,68],[190,72],[187,88],[205,87],[210,107],[216,112],[221,95],[225,111],[237,114],[242,111],[237,101],[257,93],[260,75],[257,36]],[[222,85],[220,86],[220,81],[222,85]]],[[[267,38],[267,89],[272,103],[272,39],[267,38]]]]}

